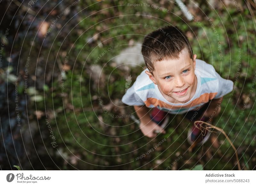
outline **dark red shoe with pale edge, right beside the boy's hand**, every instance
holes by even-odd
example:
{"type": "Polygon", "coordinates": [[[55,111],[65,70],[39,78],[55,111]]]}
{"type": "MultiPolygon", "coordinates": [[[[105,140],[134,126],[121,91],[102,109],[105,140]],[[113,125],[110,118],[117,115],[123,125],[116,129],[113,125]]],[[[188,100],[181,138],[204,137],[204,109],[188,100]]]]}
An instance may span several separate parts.
{"type": "Polygon", "coordinates": [[[168,124],[170,116],[167,112],[161,111],[155,107],[151,112],[150,118],[152,121],[156,122],[157,125],[159,125],[162,128],[165,128],[166,125],[168,124]]]}

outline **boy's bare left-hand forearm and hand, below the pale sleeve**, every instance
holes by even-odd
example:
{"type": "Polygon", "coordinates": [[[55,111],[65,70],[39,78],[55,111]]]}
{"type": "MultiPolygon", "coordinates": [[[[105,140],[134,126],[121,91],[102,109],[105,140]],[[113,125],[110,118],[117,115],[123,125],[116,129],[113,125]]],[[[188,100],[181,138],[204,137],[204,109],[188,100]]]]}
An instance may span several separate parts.
{"type": "Polygon", "coordinates": [[[159,130],[161,133],[165,134],[164,129],[151,120],[148,107],[145,105],[134,106],[134,109],[140,119],[140,130],[145,136],[156,137],[156,133],[154,133],[155,130],[159,130]]]}

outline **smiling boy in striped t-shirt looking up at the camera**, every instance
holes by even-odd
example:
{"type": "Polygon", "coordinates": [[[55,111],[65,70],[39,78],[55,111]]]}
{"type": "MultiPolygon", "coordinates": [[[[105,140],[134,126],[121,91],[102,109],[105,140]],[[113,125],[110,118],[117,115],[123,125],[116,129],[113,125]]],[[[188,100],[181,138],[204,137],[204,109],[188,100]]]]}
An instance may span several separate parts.
{"type": "Polygon", "coordinates": [[[168,122],[167,113],[184,114],[192,123],[188,142],[204,143],[209,132],[201,132],[194,121],[210,122],[220,112],[222,97],[233,89],[233,82],[220,77],[214,67],[196,59],[186,35],[177,27],[167,26],[148,34],[141,49],[147,69],[122,98],[133,105],[145,136],[168,122]],[[149,109],[153,108],[151,115],[149,109]],[[200,137],[200,138],[199,138],[200,137]]]}

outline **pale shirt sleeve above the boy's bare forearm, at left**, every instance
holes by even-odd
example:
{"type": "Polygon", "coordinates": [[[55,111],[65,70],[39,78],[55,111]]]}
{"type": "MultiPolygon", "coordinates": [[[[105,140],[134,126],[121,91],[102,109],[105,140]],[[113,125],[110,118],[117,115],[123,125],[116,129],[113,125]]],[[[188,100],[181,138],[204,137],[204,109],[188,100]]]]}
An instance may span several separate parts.
{"type": "Polygon", "coordinates": [[[122,98],[122,102],[126,105],[135,105],[135,106],[145,105],[145,103],[142,101],[142,99],[139,97],[139,95],[136,94],[136,92],[134,90],[134,87],[135,87],[134,84],[132,85],[132,87],[127,89],[126,93],[124,94],[124,96],[122,98]]]}

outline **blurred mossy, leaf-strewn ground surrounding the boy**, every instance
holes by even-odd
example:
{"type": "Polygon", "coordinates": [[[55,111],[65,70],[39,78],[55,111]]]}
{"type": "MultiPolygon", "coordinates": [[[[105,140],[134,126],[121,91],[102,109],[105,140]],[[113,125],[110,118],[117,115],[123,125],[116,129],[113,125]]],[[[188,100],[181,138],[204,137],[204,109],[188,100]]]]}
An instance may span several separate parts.
{"type": "Polygon", "coordinates": [[[234,82],[213,125],[241,168],[256,169],[255,0],[2,0],[0,9],[1,170],[237,170],[220,132],[188,151],[183,116],[149,139],[121,102],[146,68],[144,36],[166,25],[234,82]]]}

